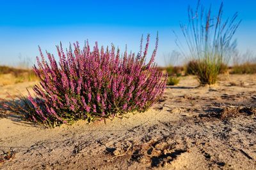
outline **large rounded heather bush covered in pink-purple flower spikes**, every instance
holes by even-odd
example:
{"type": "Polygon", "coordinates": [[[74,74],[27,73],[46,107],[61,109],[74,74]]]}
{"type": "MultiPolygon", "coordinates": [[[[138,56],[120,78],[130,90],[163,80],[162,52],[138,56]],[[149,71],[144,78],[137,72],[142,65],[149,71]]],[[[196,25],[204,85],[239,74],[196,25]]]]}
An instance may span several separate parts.
{"type": "Polygon", "coordinates": [[[41,60],[37,59],[34,71],[40,85],[33,90],[36,97],[29,94],[29,101],[35,108],[31,115],[34,121],[57,125],[79,119],[93,120],[100,117],[114,117],[128,111],[145,111],[156,103],[163,94],[166,78],[157,71],[154,58],[156,48],[148,64],[145,59],[150,36],[147,37],[145,50],[120,55],[119,49],[111,46],[99,50],[97,42],[91,50],[88,42],[84,48],[74,43],[63,50],[57,46],[60,62],[54,55],[46,52],[49,62],[40,50],[41,60]]]}

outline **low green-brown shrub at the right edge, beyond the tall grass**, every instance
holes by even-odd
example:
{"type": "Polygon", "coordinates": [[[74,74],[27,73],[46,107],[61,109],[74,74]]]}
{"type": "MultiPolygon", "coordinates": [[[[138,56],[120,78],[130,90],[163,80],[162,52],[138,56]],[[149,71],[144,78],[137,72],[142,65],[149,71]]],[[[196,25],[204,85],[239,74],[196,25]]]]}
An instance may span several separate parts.
{"type": "Polygon", "coordinates": [[[232,67],[231,74],[255,74],[256,63],[245,62],[244,64],[236,64],[232,67]]]}

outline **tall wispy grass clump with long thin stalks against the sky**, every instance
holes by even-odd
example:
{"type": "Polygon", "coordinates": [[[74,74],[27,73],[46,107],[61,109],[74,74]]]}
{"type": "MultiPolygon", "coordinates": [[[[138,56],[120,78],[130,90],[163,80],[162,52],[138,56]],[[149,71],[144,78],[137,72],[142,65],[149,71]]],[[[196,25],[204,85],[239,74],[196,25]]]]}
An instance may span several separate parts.
{"type": "Polygon", "coordinates": [[[195,10],[189,6],[188,19],[188,25],[180,25],[192,58],[187,73],[195,74],[202,85],[214,84],[236,48],[232,37],[241,21],[236,22],[237,13],[231,19],[223,20],[223,3],[213,16],[211,8],[205,10],[200,1],[195,10]]]}

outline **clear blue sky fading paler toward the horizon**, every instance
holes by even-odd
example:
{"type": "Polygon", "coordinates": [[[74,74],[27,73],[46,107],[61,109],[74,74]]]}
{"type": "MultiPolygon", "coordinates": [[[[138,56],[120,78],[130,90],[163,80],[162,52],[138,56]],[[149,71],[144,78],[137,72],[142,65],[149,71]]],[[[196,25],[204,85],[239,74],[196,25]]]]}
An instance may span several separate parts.
{"type": "MultiPolygon", "coordinates": [[[[172,31],[180,32],[179,23],[187,21],[188,4],[197,0],[164,1],[4,1],[0,0],[0,64],[15,65],[22,58],[32,60],[38,55],[37,46],[56,53],[61,41],[93,45],[114,43],[138,52],[141,34],[152,35],[151,49],[159,31],[159,52],[156,61],[164,65],[163,55],[177,50],[172,31]]],[[[202,0],[205,6],[218,8],[220,0],[202,0]]],[[[239,12],[243,20],[237,33],[241,51],[256,47],[256,1],[223,0],[225,15],[239,12]]]]}

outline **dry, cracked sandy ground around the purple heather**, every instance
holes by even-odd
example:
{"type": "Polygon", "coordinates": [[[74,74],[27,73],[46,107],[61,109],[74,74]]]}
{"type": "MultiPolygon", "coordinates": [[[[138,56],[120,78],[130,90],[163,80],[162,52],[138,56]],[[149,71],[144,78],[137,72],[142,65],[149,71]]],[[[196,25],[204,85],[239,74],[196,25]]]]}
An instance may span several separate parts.
{"type": "MultiPolygon", "coordinates": [[[[0,87],[0,97],[28,86],[0,87]]],[[[212,87],[182,77],[126,116],[42,129],[2,113],[0,169],[256,169],[255,74],[220,75],[212,87]]]]}

